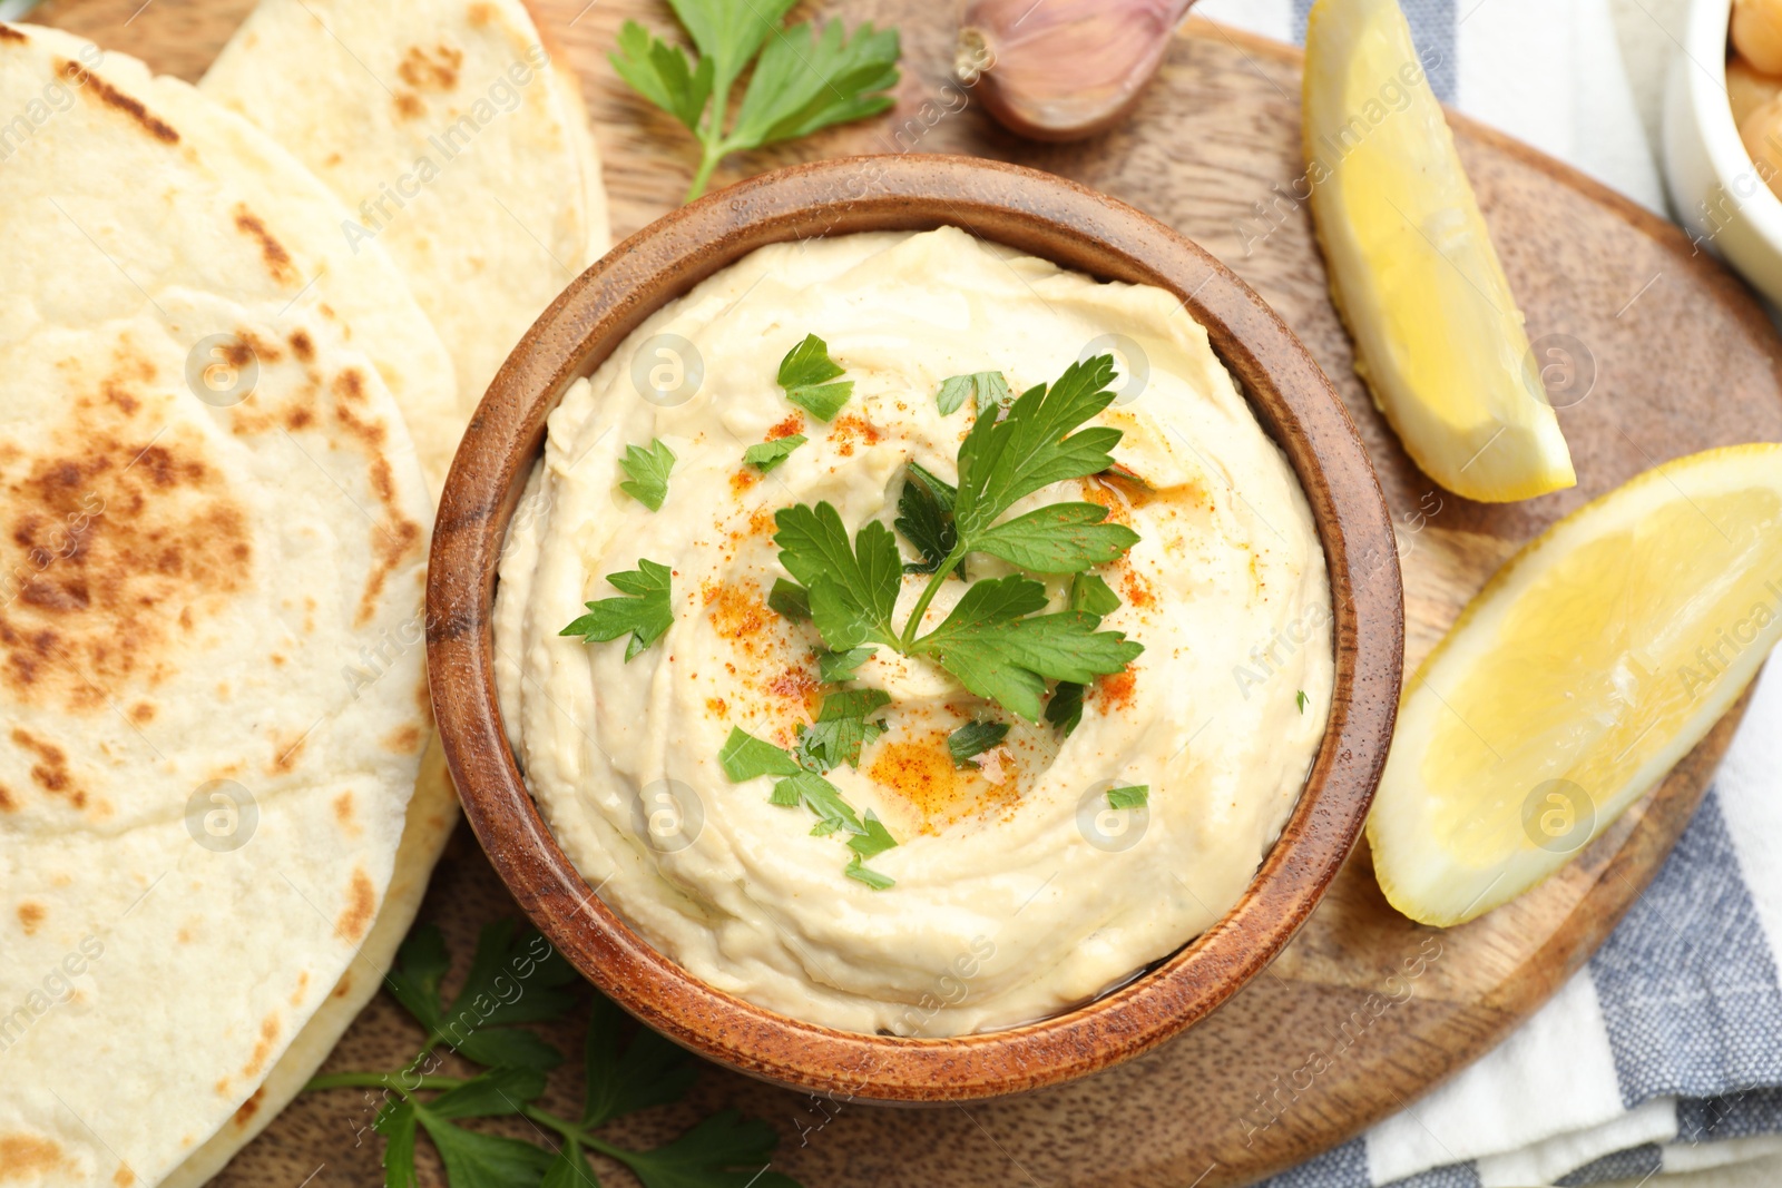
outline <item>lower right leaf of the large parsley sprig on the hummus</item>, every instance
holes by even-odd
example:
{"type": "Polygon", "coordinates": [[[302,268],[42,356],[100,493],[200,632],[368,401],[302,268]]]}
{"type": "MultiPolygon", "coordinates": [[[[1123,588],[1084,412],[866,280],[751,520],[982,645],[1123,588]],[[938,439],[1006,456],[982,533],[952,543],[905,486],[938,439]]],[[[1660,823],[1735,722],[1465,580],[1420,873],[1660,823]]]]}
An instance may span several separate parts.
{"type": "Polygon", "coordinates": [[[1044,606],[1046,588],[1028,577],[975,582],[914,650],[937,659],[978,696],[1028,721],[1039,720],[1046,680],[1089,684],[1144,652],[1123,632],[1096,631],[1101,620],[1082,611],[1023,618],[1044,606]]]}

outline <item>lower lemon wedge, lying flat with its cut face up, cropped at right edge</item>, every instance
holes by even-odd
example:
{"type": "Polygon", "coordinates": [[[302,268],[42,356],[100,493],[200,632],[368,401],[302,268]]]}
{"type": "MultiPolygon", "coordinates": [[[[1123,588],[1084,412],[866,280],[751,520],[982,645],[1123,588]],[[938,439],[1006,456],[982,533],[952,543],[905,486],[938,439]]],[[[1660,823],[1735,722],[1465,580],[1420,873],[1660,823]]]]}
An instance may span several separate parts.
{"type": "Polygon", "coordinates": [[[1367,839],[1392,907],[1461,924],[1639,800],[1782,638],[1782,445],[1680,458],[1509,559],[1417,670],[1367,839]]]}

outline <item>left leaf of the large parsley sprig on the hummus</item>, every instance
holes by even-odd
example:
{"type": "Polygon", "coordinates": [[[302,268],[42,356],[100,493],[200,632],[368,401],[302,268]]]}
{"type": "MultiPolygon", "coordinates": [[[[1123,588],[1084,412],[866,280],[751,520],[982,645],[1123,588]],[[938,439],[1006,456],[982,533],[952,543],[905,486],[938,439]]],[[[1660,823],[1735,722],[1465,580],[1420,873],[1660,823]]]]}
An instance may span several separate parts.
{"type": "Polygon", "coordinates": [[[795,504],[773,513],[781,565],[809,591],[811,618],[836,652],[896,638],[891,613],[903,575],[891,529],[870,522],[848,547],[848,531],[832,504],[795,504]]]}

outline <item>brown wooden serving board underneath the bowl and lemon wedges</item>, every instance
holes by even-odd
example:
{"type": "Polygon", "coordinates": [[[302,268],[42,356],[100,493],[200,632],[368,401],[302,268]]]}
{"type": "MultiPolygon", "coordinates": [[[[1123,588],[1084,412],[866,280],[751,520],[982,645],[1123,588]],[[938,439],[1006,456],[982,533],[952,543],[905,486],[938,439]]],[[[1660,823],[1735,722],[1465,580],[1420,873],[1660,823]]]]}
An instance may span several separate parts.
{"type": "MultiPolygon", "coordinates": [[[[39,20],[196,78],[251,0],[55,0],[39,20]]],[[[606,52],[625,18],[666,30],[656,0],[533,0],[547,37],[581,71],[606,159],[615,235],[675,207],[691,142],[615,78],[606,52]]],[[[732,159],[715,185],[768,167],[864,151],[977,153],[1050,169],[1157,216],[1249,281],[1299,333],[1349,403],[1401,536],[1408,668],[1522,541],[1634,474],[1711,445],[1782,440],[1782,354],[1750,294],[1691,251],[1672,224],[1495,132],[1456,118],[1459,151],[1484,205],[1536,342],[1570,349],[1554,372],[1579,470],[1574,492],[1484,506],[1436,488],[1406,460],[1351,369],[1326,297],[1301,175],[1299,59],[1285,46],[1190,23],[1133,116],[1080,144],[1037,146],[987,119],[952,82],[948,0],[825,5],[850,21],[896,25],[905,73],[896,110],[811,141],[732,159]]],[[[568,180],[565,178],[565,183],[568,180]]],[[[1206,1022],[1133,1063],[1034,1097],[946,1110],[852,1106],[834,1117],[797,1094],[711,1069],[681,1106],[615,1127],[661,1142],[734,1104],[777,1124],[775,1165],[807,1186],[1242,1184],[1347,1140],[1426,1094],[1504,1038],[1590,956],[1638,899],[1698,803],[1743,705],[1650,798],[1549,883],[1463,928],[1422,928],[1392,912],[1365,844],[1304,932],[1206,1022]],[[1438,953],[1438,956],[1433,956],[1438,953]],[[1417,958],[1424,958],[1417,965],[1417,958]],[[1404,978],[1406,962],[1418,969],[1404,978]],[[1404,997],[1408,987],[1408,997],[1404,997]],[[1383,1013],[1383,999],[1399,999],[1383,1013]],[[1365,1021],[1365,1022],[1363,1022],[1365,1021]],[[1319,1047],[1356,1038],[1265,1129],[1262,1095],[1319,1047]],[[1358,1026],[1363,1024],[1363,1026],[1358,1026]]],[[[463,830],[422,910],[467,958],[476,930],[515,914],[463,830]]],[[[462,972],[462,967],[460,967],[462,972]]],[[[380,996],[328,1070],[399,1065],[421,1033],[380,996]]],[[[554,1040],[577,1051],[576,1028],[554,1040]]],[[[574,1110],[579,1072],[560,1070],[547,1104],[574,1110]]],[[[832,1110],[832,1108],[830,1108],[832,1110]]],[[[217,1184],[374,1184],[380,1143],[356,1094],[308,1095],[248,1147],[217,1184]]],[[[510,1133],[531,1136],[524,1122],[510,1133]]],[[[426,1156],[431,1158],[431,1156],[426,1156]]],[[[609,1183],[625,1183],[613,1167],[609,1183]]],[[[440,1183],[428,1167],[424,1183],[440,1183]]]]}

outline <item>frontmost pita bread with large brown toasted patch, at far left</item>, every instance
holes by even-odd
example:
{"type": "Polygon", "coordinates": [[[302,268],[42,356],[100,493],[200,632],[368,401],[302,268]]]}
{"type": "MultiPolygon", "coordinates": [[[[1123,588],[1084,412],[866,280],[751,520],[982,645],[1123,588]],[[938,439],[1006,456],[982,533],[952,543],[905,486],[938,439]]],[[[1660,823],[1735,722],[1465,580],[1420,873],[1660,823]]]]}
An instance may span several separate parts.
{"type": "Polygon", "coordinates": [[[387,908],[429,504],[308,246],[69,48],[0,27],[0,1161],[127,1188],[387,908]]]}

